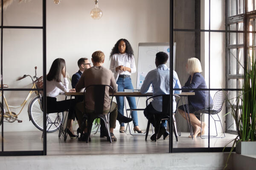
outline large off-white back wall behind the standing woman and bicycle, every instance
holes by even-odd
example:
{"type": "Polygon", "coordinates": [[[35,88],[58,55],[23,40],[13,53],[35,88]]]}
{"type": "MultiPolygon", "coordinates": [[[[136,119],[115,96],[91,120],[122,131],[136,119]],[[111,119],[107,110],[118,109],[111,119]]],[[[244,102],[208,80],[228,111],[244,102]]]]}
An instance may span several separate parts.
{"type": "MultiPolygon", "coordinates": [[[[55,5],[47,1],[47,72],[58,57],[66,60],[67,71],[78,71],[77,60],[91,58],[94,51],[105,53],[105,67],[109,68],[109,54],[120,38],[130,41],[137,63],[139,42],[169,42],[169,0],[100,0],[103,11],[100,20],[90,18],[94,0],[62,0],[55,5]]],[[[42,2],[15,1],[4,11],[4,26],[42,26],[42,2]]],[[[10,88],[30,88],[31,80],[16,81],[23,74],[42,75],[42,30],[4,29],[3,83],[10,88]]],[[[137,74],[131,76],[136,87],[137,74]]],[[[70,83],[71,84],[71,83],[70,83]]],[[[70,85],[71,87],[71,85],[70,85]]],[[[27,92],[5,92],[9,105],[19,105],[27,92]]],[[[63,97],[62,97],[63,98],[63,97]]],[[[141,102],[145,107],[145,102],[141,102]]],[[[20,109],[12,110],[18,113],[20,109]]],[[[139,125],[146,127],[143,112],[139,125]]],[[[27,104],[18,116],[23,123],[5,123],[5,131],[37,130],[27,116],[27,104]]],[[[118,124],[118,123],[117,123],[118,124]]],[[[116,129],[119,129],[117,125],[116,129]]]]}

